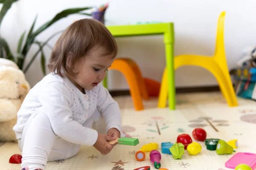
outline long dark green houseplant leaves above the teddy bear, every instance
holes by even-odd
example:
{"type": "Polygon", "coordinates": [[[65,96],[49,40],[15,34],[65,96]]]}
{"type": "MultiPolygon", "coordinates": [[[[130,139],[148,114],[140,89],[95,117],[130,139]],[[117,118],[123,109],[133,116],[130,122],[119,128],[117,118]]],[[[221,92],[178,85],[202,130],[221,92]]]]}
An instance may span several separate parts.
{"type": "MultiPolygon", "coordinates": [[[[1,26],[1,23],[2,23],[2,20],[3,20],[3,17],[6,15],[7,11],[11,8],[12,4],[17,2],[17,1],[18,0],[0,0],[0,3],[3,4],[3,6],[0,10],[0,26],[1,26]]],[[[28,34],[26,35],[26,31],[24,31],[23,34],[20,36],[19,42],[17,44],[17,55],[15,55],[15,57],[12,55],[12,53],[9,49],[9,45],[7,44],[6,40],[1,38],[1,36],[0,36],[0,57],[4,57],[4,54],[6,54],[6,58],[11,59],[12,61],[14,61],[15,58],[17,58],[16,63],[19,66],[19,68],[21,70],[23,70],[23,63],[26,59],[26,56],[27,56],[31,46],[34,43],[37,43],[40,48],[32,56],[32,59],[29,61],[28,65],[26,66],[26,68],[23,72],[26,73],[26,71],[29,69],[30,65],[32,64],[32,62],[35,60],[37,55],[41,52],[41,67],[42,67],[42,71],[45,74],[46,73],[46,70],[45,70],[45,55],[44,55],[43,48],[44,48],[45,45],[49,46],[48,42],[49,42],[49,40],[52,39],[52,37],[54,37],[55,35],[59,34],[60,32],[63,32],[63,31],[58,31],[57,33],[50,36],[49,39],[47,39],[45,42],[41,42],[41,43],[36,41],[36,39],[35,39],[36,36],[38,36],[38,34],[41,34],[44,30],[49,28],[49,26],[51,26],[52,24],[54,24],[58,20],[61,20],[62,18],[67,17],[71,14],[82,14],[82,15],[91,16],[91,14],[83,13],[84,10],[88,10],[88,9],[91,9],[91,8],[92,7],[65,9],[65,10],[59,12],[58,14],[56,14],[55,17],[52,18],[52,20],[49,20],[47,23],[45,23],[44,25],[42,25],[41,27],[39,27],[37,30],[34,31],[35,22],[36,22],[36,19],[37,19],[37,17],[35,17],[35,20],[33,21],[32,26],[30,27],[30,29],[28,31],[28,34]]]]}

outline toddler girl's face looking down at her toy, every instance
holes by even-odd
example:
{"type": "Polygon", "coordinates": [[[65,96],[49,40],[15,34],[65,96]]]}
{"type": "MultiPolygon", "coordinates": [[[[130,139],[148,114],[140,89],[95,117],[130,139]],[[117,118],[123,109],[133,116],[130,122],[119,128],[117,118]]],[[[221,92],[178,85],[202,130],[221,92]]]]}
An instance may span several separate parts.
{"type": "Polygon", "coordinates": [[[78,60],[74,70],[78,75],[73,81],[80,91],[93,89],[105,78],[107,69],[114,61],[113,56],[105,55],[105,52],[105,48],[96,46],[78,60]]]}

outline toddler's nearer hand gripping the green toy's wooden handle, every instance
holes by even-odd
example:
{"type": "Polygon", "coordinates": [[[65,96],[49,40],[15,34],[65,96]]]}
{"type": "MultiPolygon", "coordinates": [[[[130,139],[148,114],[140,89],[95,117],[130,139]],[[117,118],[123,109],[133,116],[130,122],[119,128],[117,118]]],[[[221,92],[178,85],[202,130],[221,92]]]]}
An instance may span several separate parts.
{"type": "Polygon", "coordinates": [[[99,152],[102,155],[107,155],[108,153],[110,153],[110,151],[112,150],[112,148],[114,147],[112,144],[109,144],[109,141],[113,141],[115,140],[115,137],[111,137],[111,136],[107,136],[107,135],[103,135],[103,134],[99,134],[98,135],[98,139],[95,142],[95,144],[93,144],[93,146],[99,150],[99,152]]]}

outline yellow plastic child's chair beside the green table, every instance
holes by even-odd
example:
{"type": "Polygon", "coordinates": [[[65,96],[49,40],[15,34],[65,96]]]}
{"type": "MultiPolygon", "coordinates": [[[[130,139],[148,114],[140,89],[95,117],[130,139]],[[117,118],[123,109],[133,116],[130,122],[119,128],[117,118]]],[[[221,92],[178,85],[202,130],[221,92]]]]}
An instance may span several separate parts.
{"type": "MultiPolygon", "coordinates": [[[[227,67],[227,60],[224,48],[224,20],[226,12],[223,11],[218,18],[218,28],[216,37],[215,54],[213,56],[199,55],[179,55],[174,59],[174,69],[183,65],[196,65],[209,70],[217,79],[221,92],[227,100],[230,107],[237,106],[236,94],[230,79],[230,74],[227,67]]],[[[163,73],[160,95],[158,100],[158,108],[165,108],[168,86],[167,86],[166,68],[163,73]]]]}

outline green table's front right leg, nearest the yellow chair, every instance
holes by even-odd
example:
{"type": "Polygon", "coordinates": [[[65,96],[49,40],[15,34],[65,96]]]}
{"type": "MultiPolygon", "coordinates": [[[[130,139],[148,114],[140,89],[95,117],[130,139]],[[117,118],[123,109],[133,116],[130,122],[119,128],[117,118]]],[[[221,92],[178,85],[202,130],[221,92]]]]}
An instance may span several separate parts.
{"type": "Polygon", "coordinates": [[[173,44],[171,42],[165,42],[166,50],[166,68],[168,75],[168,96],[169,96],[169,108],[175,110],[175,70],[174,70],[174,52],[173,44]]]}

